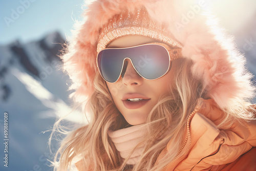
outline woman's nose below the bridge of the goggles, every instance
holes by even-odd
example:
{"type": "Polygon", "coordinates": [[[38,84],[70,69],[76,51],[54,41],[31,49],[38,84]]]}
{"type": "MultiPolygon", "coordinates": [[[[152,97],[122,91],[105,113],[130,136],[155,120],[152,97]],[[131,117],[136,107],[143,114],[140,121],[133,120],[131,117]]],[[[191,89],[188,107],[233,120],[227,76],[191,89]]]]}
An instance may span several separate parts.
{"type": "Polygon", "coordinates": [[[131,59],[127,59],[124,61],[124,68],[122,72],[122,82],[126,86],[140,86],[143,83],[143,78],[137,73],[137,71],[133,67],[131,59]],[[127,62],[126,65],[125,62],[127,62]]]}

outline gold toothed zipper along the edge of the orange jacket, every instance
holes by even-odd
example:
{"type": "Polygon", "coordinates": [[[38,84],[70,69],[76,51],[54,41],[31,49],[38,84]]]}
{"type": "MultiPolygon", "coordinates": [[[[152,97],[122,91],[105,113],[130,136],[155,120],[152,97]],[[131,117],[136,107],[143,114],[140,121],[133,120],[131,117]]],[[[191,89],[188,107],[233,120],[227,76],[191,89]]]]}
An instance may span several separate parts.
{"type": "MultiPolygon", "coordinates": [[[[191,138],[190,138],[191,136],[190,136],[189,122],[190,122],[191,117],[194,116],[194,115],[196,114],[196,112],[198,112],[198,111],[199,111],[199,109],[198,109],[197,106],[196,106],[195,110],[194,110],[192,113],[189,114],[189,116],[188,116],[188,118],[187,118],[187,124],[186,124],[186,125],[187,125],[187,136],[186,136],[186,138],[185,138],[185,141],[184,141],[184,143],[183,143],[183,145],[182,145],[182,147],[181,147],[179,153],[175,156],[175,158],[174,158],[172,161],[170,161],[168,164],[166,164],[166,165],[162,168],[162,171],[165,170],[166,167],[167,167],[171,162],[173,162],[175,159],[178,158],[178,156],[179,156],[179,155],[181,154],[181,152],[183,151],[183,148],[184,148],[184,146],[186,145],[188,139],[189,139],[189,145],[188,145],[188,148],[187,148],[186,153],[189,151],[190,146],[191,146],[191,138]]],[[[185,154],[186,154],[186,153],[185,153],[185,154]]]]}

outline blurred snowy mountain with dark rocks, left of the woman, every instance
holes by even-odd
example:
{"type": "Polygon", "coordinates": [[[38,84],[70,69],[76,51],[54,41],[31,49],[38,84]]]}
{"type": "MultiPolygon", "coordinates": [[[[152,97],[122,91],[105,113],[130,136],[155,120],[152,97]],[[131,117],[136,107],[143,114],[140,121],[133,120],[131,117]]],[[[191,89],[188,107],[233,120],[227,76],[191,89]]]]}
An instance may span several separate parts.
{"type": "MultiPolygon", "coordinates": [[[[38,41],[18,40],[0,46],[0,135],[4,137],[4,113],[8,113],[8,168],[0,170],[52,170],[48,138],[56,118],[71,112],[69,77],[61,71],[57,56],[65,41],[58,32],[38,41]]],[[[67,120],[84,123],[79,111],[67,120]]],[[[56,142],[55,142],[56,143],[56,142]]],[[[54,145],[54,144],[53,144],[54,145]]],[[[4,144],[1,143],[1,156],[4,144]]],[[[3,162],[3,160],[1,160],[3,162]]]]}

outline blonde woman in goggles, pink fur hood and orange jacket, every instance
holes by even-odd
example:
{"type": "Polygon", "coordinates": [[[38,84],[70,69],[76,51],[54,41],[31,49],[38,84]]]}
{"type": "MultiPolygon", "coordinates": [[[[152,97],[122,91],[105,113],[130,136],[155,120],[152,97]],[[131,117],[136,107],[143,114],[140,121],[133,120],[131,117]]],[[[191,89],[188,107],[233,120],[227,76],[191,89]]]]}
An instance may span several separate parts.
{"type": "Polygon", "coordinates": [[[256,168],[251,75],[202,4],[86,5],[63,61],[90,121],[63,140],[57,170],[256,168]]]}

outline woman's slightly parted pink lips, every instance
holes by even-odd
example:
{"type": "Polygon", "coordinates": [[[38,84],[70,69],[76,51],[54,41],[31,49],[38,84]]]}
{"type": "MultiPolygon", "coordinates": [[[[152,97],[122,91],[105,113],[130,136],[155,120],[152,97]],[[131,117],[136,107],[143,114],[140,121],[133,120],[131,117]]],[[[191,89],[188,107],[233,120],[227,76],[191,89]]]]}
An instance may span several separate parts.
{"type": "Polygon", "coordinates": [[[122,101],[125,108],[138,109],[138,108],[141,108],[143,105],[145,105],[148,101],[150,101],[150,98],[147,98],[144,95],[139,93],[127,93],[123,96],[122,101]],[[139,100],[139,101],[128,100],[128,99],[136,99],[136,98],[143,99],[143,100],[139,100]]]}

